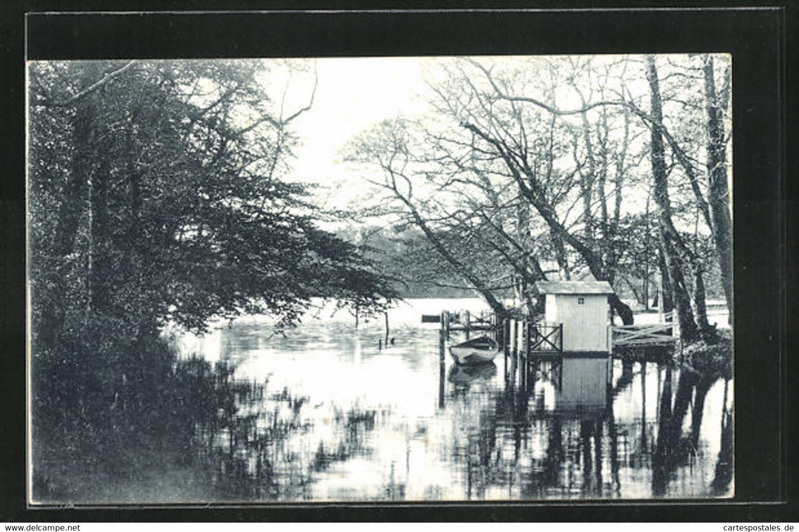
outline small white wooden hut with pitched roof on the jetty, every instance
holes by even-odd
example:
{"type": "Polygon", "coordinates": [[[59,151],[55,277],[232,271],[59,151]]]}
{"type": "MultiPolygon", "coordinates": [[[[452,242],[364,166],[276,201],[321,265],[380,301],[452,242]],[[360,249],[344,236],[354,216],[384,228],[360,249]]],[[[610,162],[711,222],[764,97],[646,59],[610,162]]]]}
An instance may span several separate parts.
{"type": "Polygon", "coordinates": [[[563,351],[610,351],[607,281],[539,281],[547,324],[563,324],[563,351]]]}

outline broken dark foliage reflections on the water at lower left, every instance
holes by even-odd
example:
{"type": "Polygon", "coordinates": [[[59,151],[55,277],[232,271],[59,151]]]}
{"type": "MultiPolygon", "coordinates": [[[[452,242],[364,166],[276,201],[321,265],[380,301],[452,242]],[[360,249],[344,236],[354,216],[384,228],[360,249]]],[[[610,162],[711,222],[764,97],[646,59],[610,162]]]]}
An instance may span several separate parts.
{"type": "Polygon", "coordinates": [[[189,459],[222,500],[308,498],[314,474],[369,453],[365,441],[375,427],[374,410],[334,411],[336,437],[306,457],[293,443],[312,431],[301,415],[308,397],[288,389],[267,395],[264,384],[234,379],[225,364],[206,373],[212,400],[196,405],[202,421],[189,459]]]}

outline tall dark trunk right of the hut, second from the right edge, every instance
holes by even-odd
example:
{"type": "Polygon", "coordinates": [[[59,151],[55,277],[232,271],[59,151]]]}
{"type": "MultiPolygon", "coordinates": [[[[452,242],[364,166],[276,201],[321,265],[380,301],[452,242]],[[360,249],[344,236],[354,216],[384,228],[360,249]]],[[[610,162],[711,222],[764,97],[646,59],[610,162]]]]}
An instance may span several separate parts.
{"type": "Polygon", "coordinates": [[[660,97],[660,84],[658,70],[652,56],[646,57],[646,80],[650,85],[650,113],[654,124],[651,127],[650,151],[652,159],[652,176],[654,179],[654,200],[658,205],[658,232],[660,247],[666,262],[669,282],[672,290],[672,300],[678,313],[680,335],[682,339],[690,342],[697,337],[697,327],[694,322],[694,312],[691,310],[690,297],[682,274],[682,261],[674,249],[672,238],[674,227],[671,221],[671,204],[669,199],[668,177],[666,174],[666,149],[663,144],[662,133],[656,124],[663,123],[662,103],[660,97]]]}

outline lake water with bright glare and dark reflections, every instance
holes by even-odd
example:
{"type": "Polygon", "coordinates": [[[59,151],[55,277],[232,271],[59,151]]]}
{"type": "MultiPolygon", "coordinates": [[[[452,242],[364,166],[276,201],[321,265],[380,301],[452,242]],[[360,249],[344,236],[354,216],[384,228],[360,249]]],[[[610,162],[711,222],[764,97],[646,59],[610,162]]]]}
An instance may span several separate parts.
{"type": "Polygon", "coordinates": [[[421,315],[481,307],[403,304],[388,347],[382,317],[355,328],[327,309],[284,336],[259,319],[182,336],[183,353],[266,383],[225,427],[197,427],[204,482],[240,502],[733,494],[732,381],[652,362],[442,360],[439,326],[421,315]]]}

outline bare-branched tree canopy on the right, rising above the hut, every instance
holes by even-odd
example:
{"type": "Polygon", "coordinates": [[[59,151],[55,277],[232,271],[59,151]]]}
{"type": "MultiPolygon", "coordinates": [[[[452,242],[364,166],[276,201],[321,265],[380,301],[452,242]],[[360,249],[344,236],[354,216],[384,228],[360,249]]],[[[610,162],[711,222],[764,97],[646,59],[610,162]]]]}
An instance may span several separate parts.
{"type": "Polygon", "coordinates": [[[658,284],[690,339],[710,332],[708,272],[731,311],[729,57],[451,58],[429,89],[427,116],[345,153],[375,187],[370,215],[415,224],[497,312],[509,284],[529,307],[547,276],[647,305],[658,284]]]}

